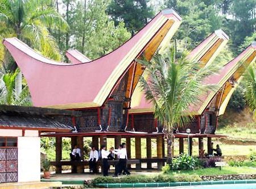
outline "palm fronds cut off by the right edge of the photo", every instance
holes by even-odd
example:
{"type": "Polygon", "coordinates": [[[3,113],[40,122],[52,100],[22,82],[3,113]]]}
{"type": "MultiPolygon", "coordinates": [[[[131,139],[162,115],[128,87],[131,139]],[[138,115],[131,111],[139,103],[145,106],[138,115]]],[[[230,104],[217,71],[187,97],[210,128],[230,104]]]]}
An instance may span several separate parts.
{"type": "Polygon", "coordinates": [[[254,112],[254,117],[256,117],[256,67],[251,65],[247,68],[245,72],[245,100],[250,110],[254,112]]]}

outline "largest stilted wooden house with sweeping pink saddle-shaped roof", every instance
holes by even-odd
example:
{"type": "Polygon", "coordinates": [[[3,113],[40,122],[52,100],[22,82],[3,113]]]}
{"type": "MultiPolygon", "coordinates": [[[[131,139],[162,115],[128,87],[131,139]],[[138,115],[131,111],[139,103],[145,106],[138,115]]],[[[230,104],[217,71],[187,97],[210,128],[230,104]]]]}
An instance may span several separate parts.
{"type": "MultiPolygon", "coordinates": [[[[56,137],[57,173],[61,172],[63,136],[72,137],[72,145],[77,143],[80,148],[83,148],[84,136],[92,136],[95,146],[99,137],[101,143],[106,142],[106,137],[114,137],[116,145],[121,137],[126,137],[127,147],[130,147],[130,137],[134,134],[125,132],[128,110],[131,94],[144,72],[135,58],[144,54],[150,60],[157,49],[168,44],[180,23],[181,18],[174,10],[161,11],[121,47],[96,60],[85,60],[84,64],[49,60],[16,38],[3,41],[27,80],[34,106],[82,112],[79,118],[56,118],[61,123],[76,126],[78,132],[44,135],[56,137]]],[[[162,136],[162,133],[147,135],[162,136]]],[[[144,133],[137,136],[144,136],[144,133]]],[[[77,171],[84,171],[82,163],[77,171]]]]}

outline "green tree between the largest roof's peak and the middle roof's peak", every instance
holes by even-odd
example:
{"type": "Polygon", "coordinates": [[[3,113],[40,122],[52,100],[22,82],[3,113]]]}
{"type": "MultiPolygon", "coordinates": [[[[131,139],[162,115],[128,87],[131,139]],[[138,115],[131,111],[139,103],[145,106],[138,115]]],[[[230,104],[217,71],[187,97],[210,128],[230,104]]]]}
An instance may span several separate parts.
{"type": "Polygon", "coordinates": [[[221,28],[219,9],[212,1],[169,0],[166,1],[166,7],[174,7],[183,19],[174,36],[182,44],[181,49],[195,48],[209,33],[221,28]]]}

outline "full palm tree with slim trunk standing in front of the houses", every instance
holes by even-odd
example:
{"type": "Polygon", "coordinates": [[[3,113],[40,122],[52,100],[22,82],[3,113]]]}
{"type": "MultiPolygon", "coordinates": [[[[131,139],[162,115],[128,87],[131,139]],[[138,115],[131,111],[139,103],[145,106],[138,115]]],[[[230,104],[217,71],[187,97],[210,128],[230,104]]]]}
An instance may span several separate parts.
{"type": "Polygon", "coordinates": [[[149,79],[141,78],[146,99],[154,105],[155,118],[163,124],[167,140],[167,163],[172,162],[173,129],[188,124],[193,118],[189,107],[200,102],[200,95],[216,87],[202,85],[202,81],[219,68],[216,64],[202,66],[185,56],[176,59],[175,49],[166,55],[156,53],[151,61],[137,60],[146,66],[149,79]]]}

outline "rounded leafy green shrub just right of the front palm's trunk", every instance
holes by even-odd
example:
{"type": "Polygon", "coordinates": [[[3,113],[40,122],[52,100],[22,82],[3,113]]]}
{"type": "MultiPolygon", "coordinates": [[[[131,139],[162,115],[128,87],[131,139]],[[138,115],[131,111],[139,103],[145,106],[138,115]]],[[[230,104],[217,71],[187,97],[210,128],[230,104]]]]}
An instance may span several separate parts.
{"type": "Polygon", "coordinates": [[[198,160],[188,154],[180,154],[179,157],[172,160],[173,170],[194,170],[198,160]]]}

